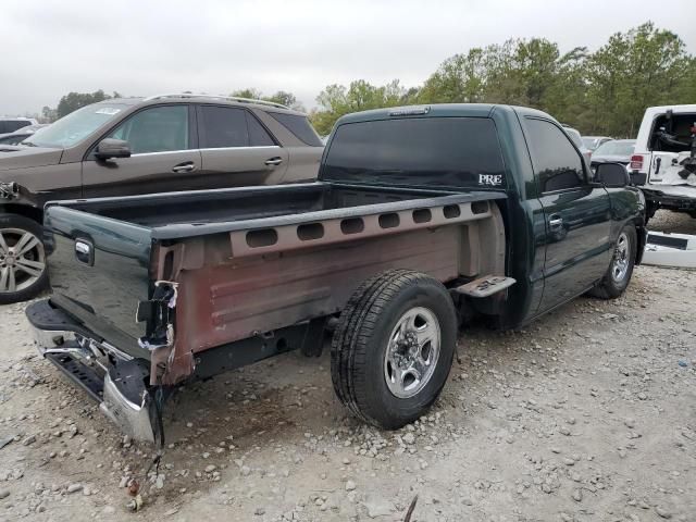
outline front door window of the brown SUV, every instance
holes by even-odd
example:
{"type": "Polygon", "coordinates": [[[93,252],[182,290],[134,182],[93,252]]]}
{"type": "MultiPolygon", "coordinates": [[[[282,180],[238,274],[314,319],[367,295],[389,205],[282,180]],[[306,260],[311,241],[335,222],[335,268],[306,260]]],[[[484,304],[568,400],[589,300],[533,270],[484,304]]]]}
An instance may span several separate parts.
{"type": "Polygon", "coordinates": [[[188,105],[145,109],[119,125],[109,137],[128,141],[134,154],[187,150],[188,105]]]}

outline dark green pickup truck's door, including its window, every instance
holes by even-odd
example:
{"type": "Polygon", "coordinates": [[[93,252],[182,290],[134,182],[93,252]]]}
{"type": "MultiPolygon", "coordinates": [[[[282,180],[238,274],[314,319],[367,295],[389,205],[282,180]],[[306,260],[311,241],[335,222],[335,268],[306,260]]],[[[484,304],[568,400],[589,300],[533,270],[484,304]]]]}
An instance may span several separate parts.
{"type": "Polygon", "coordinates": [[[546,220],[544,294],[539,311],[587,290],[611,260],[609,194],[592,185],[580,151],[556,123],[524,119],[546,220]]]}

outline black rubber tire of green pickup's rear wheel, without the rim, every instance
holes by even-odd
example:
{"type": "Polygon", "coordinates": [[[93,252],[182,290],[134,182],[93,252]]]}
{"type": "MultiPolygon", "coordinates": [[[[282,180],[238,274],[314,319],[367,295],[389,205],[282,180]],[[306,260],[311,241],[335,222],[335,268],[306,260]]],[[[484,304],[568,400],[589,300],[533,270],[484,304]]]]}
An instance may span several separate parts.
{"type": "MultiPolygon", "coordinates": [[[[423,415],[437,399],[449,375],[456,344],[457,314],[447,289],[419,272],[384,272],[363,283],[340,314],[331,351],[336,395],[359,419],[387,430],[399,428],[423,415]],[[438,355],[422,388],[410,397],[397,397],[387,385],[385,369],[391,366],[385,358],[395,327],[412,310],[424,310],[435,318],[438,355]]],[[[421,348],[414,351],[422,356],[421,348]]]]}

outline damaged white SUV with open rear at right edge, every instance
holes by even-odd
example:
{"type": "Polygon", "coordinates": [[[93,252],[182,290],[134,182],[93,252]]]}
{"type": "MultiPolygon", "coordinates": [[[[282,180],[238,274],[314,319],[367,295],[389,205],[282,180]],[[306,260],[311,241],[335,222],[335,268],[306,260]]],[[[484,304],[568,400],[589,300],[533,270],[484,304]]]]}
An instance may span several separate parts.
{"type": "Polygon", "coordinates": [[[649,216],[668,209],[696,217],[696,104],[649,107],[630,170],[649,216]]]}

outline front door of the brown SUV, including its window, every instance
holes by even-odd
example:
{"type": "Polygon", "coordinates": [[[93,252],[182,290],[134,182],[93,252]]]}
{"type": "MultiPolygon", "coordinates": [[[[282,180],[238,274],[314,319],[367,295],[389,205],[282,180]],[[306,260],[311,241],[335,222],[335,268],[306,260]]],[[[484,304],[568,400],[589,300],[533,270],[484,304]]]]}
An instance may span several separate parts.
{"type": "Polygon", "coordinates": [[[123,139],[130,158],[98,160],[94,144],[83,162],[86,198],[134,196],[196,188],[201,159],[195,114],[188,104],[147,107],[103,138],[123,139]]]}

